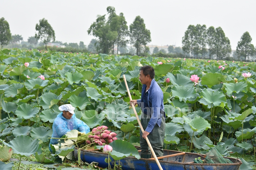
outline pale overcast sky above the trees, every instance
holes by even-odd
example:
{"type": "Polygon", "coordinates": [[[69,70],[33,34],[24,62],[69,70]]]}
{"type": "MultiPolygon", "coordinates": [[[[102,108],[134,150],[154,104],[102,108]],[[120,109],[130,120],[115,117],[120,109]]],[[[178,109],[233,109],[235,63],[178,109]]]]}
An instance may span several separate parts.
{"type": "Polygon", "coordinates": [[[205,24],[221,27],[230,39],[232,50],[245,31],[256,45],[255,0],[181,0],[181,1],[70,1],[70,0],[1,0],[0,18],[9,22],[11,33],[22,35],[27,41],[36,33],[36,23],[45,18],[55,31],[56,40],[70,43],[83,41],[88,45],[94,38],[87,30],[97,15],[107,14],[108,6],[116,13],[123,12],[129,26],[136,16],[141,16],[146,29],[151,32],[149,44],[182,46],[187,27],[205,24]]]}

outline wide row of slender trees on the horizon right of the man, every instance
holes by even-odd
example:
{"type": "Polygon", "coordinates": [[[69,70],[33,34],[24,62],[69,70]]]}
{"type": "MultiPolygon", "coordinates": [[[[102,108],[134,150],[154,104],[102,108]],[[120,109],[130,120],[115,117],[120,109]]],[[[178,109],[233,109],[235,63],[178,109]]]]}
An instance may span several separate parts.
{"type": "Polygon", "coordinates": [[[209,59],[216,57],[218,60],[230,56],[231,46],[221,27],[215,29],[211,26],[207,29],[206,25],[197,24],[189,25],[185,31],[182,37],[182,50],[197,59],[199,55],[203,58],[208,50],[209,59]]]}

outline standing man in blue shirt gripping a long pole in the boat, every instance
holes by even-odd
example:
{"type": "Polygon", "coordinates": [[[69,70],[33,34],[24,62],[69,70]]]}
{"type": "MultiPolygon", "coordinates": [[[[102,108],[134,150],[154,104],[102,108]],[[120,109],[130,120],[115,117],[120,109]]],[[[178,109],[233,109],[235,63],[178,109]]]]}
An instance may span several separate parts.
{"type": "Polygon", "coordinates": [[[141,107],[141,124],[145,130],[140,130],[141,158],[151,158],[151,151],[146,142],[146,137],[150,141],[157,157],[163,156],[164,134],[165,134],[165,112],[164,95],[159,85],[154,80],[155,71],[152,66],[140,68],[140,81],[143,84],[141,99],[131,100],[135,106],[141,107]]]}

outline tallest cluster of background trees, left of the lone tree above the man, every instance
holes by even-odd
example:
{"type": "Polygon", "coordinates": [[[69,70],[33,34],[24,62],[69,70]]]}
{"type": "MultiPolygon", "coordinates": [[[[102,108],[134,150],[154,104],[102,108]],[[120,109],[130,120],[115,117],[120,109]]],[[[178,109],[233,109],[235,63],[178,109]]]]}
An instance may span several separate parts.
{"type": "Polygon", "coordinates": [[[89,35],[98,38],[98,45],[95,42],[96,51],[114,54],[115,47],[117,47],[118,53],[119,48],[125,47],[128,42],[136,48],[137,55],[148,51],[145,46],[151,42],[150,31],[146,29],[143,18],[137,16],[128,30],[122,12],[117,15],[114,7],[107,7],[107,12],[107,19],[106,15],[98,16],[87,31],[89,35]]]}

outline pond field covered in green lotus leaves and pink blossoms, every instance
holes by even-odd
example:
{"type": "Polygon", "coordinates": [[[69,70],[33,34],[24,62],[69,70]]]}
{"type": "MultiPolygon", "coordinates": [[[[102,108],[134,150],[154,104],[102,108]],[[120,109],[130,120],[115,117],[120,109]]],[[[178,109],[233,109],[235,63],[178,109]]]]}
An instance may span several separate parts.
{"type": "Polygon", "coordinates": [[[123,74],[132,98],[139,99],[139,68],[151,65],[164,93],[165,149],[216,148],[255,162],[255,63],[19,49],[1,50],[0,60],[0,137],[12,144],[11,150],[0,148],[2,161],[8,152],[47,162],[40,144],[49,143],[58,107],[67,103],[91,129],[105,125],[118,139],[139,145],[123,74]]]}

